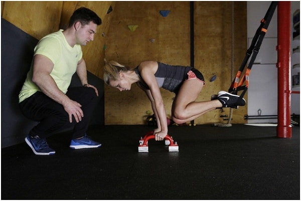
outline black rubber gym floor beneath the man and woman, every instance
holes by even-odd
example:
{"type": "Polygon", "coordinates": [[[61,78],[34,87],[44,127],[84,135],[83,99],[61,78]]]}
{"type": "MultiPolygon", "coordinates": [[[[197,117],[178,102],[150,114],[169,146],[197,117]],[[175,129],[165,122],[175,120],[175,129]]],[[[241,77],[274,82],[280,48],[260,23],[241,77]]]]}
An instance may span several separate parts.
{"type": "Polygon", "coordinates": [[[300,129],[233,124],[170,126],[179,152],[148,141],[146,125],[92,126],[97,149],[70,149],[71,132],[48,139],[55,155],[2,148],[2,199],[300,199],[300,129]]]}

